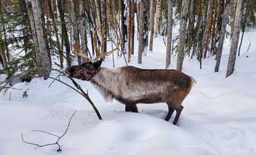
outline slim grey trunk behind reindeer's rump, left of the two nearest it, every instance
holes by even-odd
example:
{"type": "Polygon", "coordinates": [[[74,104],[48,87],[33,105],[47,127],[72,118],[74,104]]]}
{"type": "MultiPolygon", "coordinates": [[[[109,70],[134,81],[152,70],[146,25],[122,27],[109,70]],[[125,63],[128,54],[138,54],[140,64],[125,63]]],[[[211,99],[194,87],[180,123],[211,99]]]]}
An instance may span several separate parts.
{"type": "MultiPolygon", "coordinates": [[[[152,1],[152,0],[151,0],[152,1]]],[[[168,25],[167,25],[167,46],[166,46],[166,68],[171,63],[172,52],[172,0],[168,1],[168,25]]]]}

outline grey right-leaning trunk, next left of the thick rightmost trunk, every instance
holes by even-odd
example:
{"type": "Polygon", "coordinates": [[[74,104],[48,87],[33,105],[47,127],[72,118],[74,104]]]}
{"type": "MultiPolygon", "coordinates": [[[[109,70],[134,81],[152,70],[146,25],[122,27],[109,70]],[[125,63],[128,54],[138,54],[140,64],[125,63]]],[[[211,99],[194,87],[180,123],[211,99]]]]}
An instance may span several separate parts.
{"type": "Polygon", "coordinates": [[[219,32],[218,48],[217,48],[217,53],[216,53],[215,72],[218,72],[220,64],[221,64],[221,55],[222,55],[222,49],[223,49],[230,9],[231,9],[230,0],[227,0],[226,4],[225,4],[225,8],[224,8],[224,14],[221,19],[222,23],[221,23],[221,31],[219,32]]]}

